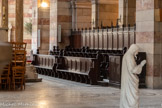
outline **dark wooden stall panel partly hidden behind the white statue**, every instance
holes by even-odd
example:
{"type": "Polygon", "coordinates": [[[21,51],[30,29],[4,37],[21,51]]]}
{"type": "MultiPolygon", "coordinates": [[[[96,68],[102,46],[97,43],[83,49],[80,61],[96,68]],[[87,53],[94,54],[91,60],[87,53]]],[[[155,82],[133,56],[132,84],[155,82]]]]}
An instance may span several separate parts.
{"type": "MultiPolygon", "coordinates": [[[[121,70],[122,70],[122,54],[109,56],[109,85],[114,87],[121,86],[121,70]]],[[[137,55],[136,63],[141,63],[142,60],[146,60],[146,53],[139,52],[137,55]]],[[[141,74],[139,75],[139,87],[146,87],[146,65],[143,67],[141,74]]]]}

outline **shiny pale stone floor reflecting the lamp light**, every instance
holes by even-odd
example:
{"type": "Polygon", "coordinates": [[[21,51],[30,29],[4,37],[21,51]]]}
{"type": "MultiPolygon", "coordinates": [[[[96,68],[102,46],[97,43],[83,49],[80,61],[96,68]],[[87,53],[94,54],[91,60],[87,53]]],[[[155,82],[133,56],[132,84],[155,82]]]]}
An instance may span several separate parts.
{"type": "MultiPolygon", "coordinates": [[[[1,91],[0,108],[119,108],[119,89],[39,77],[25,91],[1,91]]],[[[162,108],[162,90],[140,90],[140,108],[162,108]]]]}

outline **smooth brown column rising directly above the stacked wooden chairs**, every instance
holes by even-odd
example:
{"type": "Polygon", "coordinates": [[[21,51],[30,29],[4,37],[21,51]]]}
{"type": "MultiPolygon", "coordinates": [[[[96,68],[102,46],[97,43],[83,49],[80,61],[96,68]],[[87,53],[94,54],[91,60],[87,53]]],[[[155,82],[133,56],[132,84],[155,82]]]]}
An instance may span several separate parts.
{"type": "Polygon", "coordinates": [[[16,0],[16,42],[23,42],[23,26],[23,0],[16,0]]]}

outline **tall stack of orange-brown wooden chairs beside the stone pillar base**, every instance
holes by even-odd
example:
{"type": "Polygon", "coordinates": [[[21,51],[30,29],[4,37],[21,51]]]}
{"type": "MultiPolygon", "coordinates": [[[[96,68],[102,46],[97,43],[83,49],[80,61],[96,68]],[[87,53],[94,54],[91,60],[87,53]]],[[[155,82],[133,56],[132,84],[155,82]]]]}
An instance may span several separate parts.
{"type": "Polygon", "coordinates": [[[15,85],[21,86],[21,90],[25,89],[25,64],[26,51],[15,50],[12,61],[12,85],[15,90],[15,85]]]}

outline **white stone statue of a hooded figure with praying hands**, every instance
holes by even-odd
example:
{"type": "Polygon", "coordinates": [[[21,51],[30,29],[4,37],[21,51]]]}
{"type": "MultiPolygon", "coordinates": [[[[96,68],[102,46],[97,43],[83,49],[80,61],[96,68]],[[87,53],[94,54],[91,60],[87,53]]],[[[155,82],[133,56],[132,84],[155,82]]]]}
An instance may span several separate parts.
{"type": "Polygon", "coordinates": [[[146,60],[139,65],[136,64],[135,57],[138,51],[138,46],[133,44],[123,57],[120,108],[139,108],[139,78],[137,75],[141,73],[146,60]]]}

